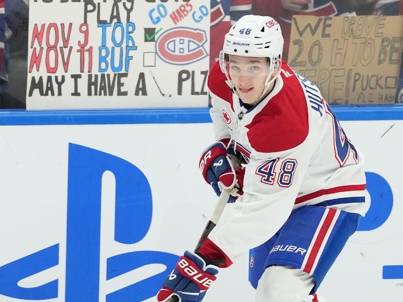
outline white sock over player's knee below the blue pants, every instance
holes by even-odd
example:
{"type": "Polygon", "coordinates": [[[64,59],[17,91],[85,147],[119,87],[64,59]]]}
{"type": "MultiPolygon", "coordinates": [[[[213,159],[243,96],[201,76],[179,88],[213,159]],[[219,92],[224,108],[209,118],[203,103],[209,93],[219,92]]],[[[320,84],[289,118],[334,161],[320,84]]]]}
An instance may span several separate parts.
{"type": "Polygon", "coordinates": [[[255,302],[310,302],[314,285],[312,276],[300,269],[270,266],[257,284],[255,302]]]}

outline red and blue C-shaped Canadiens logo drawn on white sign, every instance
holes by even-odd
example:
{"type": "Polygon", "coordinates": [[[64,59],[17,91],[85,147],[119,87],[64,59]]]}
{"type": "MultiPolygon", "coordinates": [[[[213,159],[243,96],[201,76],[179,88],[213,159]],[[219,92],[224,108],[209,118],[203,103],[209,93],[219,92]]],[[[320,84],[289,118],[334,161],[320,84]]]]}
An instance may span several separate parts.
{"type": "Polygon", "coordinates": [[[155,49],[163,61],[174,65],[185,65],[209,55],[203,46],[207,41],[204,30],[175,27],[161,34],[155,43],[155,49]]]}

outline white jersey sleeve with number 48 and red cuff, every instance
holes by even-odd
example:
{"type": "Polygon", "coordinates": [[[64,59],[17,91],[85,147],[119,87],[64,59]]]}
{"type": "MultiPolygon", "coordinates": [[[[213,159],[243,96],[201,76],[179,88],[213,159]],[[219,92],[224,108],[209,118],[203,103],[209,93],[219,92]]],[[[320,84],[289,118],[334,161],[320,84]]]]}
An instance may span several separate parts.
{"type": "Polygon", "coordinates": [[[283,152],[267,154],[246,165],[244,194],[227,204],[202,253],[229,266],[245,251],[270,239],[294,206],[309,163],[309,141],[283,152]]]}

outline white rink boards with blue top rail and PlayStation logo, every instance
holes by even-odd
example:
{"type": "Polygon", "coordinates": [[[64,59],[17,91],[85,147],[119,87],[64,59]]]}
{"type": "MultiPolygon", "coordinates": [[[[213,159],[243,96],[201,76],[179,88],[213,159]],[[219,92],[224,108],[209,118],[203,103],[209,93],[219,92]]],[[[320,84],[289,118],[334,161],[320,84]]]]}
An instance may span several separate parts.
{"type": "MultiPolygon", "coordinates": [[[[403,296],[403,111],[339,107],[371,208],[322,283],[327,302],[403,296]]],[[[154,301],[217,197],[198,171],[207,109],[0,113],[0,301],[154,301]],[[168,268],[167,268],[168,266],[168,268]]],[[[253,301],[248,253],[204,301],[253,301]]]]}

